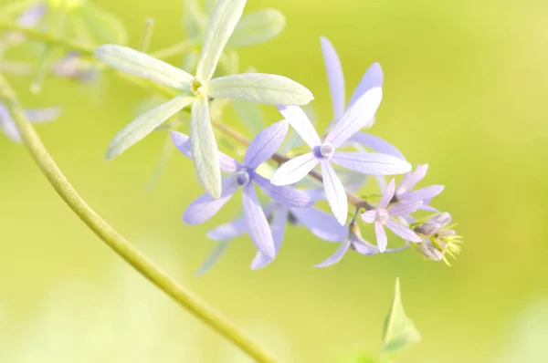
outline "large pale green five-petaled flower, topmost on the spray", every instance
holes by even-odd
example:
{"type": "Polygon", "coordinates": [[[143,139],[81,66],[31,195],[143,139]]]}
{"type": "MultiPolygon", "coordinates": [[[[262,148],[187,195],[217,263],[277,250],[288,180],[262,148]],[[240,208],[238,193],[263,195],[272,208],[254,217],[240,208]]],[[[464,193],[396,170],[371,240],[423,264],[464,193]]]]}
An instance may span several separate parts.
{"type": "Polygon", "coordinates": [[[248,73],[213,78],[223,48],[242,16],[246,0],[220,0],[205,33],[195,76],[128,47],[100,46],[95,54],[123,72],[175,88],[180,95],[153,109],[121,130],[107,150],[110,160],[142,140],[163,121],[192,105],[190,140],[198,179],[214,198],[221,197],[221,173],[209,99],[247,99],[270,105],[304,105],[311,91],[285,77],[248,73]],[[213,78],[213,79],[212,79],[213,78]]]}

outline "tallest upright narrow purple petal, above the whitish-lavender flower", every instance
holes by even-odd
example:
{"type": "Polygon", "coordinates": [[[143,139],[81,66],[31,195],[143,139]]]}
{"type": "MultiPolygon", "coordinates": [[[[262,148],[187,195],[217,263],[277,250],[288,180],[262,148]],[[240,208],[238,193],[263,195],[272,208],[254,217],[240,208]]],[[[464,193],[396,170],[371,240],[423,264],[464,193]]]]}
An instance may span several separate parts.
{"type": "Polygon", "coordinates": [[[344,104],[346,98],[344,95],[344,76],[342,74],[341,60],[332,43],[321,36],[321,53],[327,72],[327,80],[332,95],[333,119],[341,119],[344,114],[344,104]]]}

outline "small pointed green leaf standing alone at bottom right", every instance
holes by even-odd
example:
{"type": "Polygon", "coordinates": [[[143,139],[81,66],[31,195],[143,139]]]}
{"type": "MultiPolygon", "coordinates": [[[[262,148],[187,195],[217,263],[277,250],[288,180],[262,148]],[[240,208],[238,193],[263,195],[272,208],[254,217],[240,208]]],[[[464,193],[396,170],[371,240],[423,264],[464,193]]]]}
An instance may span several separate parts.
{"type": "Polygon", "coordinates": [[[418,343],[420,339],[420,333],[416,329],[415,324],[413,324],[413,321],[404,312],[399,279],[397,279],[395,281],[395,295],[392,308],[385,318],[383,354],[385,357],[393,357],[406,349],[406,347],[418,343]]]}

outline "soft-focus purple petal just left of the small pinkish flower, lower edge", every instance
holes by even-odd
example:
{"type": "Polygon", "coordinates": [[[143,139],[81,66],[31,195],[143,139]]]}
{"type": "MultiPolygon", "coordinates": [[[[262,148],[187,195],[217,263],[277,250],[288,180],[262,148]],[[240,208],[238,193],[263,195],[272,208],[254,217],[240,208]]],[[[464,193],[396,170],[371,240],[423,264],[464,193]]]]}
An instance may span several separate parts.
{"type": "Polygon", "coordinates": [[[348,228],[345,225],[341,225],[331,214],[318,208],[293,208],[291,213],[297,221],[323,241],[342,242],[348,235],[348,228]]]}

